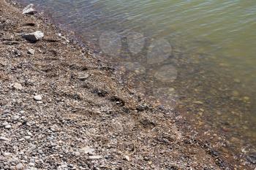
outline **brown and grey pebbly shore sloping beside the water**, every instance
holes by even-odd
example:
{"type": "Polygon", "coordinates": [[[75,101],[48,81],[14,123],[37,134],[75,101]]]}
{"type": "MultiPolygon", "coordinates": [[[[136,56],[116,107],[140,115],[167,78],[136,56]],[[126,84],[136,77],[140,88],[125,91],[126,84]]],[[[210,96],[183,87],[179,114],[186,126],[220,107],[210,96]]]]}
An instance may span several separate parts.
{"type": "Polygon", "coordinates": [[[41,13],[1,0],[0,28],[0,169],[244,169],[41,13]]]}

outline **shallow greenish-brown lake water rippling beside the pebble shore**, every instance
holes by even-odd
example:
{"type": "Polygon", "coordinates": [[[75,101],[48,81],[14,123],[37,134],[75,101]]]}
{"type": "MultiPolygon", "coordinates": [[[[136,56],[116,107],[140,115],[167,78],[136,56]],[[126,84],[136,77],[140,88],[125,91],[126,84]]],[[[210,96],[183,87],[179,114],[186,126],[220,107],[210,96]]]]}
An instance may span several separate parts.
{"type": "Polygon", "coordinates": [[[255,150],[255,0],[22,1],[100,51],[152,103],[255,150]]]}

